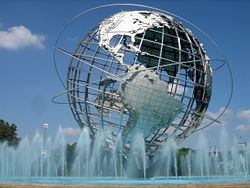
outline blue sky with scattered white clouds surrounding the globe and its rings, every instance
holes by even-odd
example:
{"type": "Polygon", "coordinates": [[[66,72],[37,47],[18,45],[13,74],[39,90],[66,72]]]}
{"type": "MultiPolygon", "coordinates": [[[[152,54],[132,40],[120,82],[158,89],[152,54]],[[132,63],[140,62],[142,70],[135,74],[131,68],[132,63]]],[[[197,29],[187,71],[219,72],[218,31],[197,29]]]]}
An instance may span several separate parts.
{"type": "MultiPolygon", "coordinates": [[[[220,119],[221,125],[211,125],[193,134],[183,145],[193,146],[201,133],[212,145],[218,144],[221,127],[230,137],[250,141],[250,1],[247,0],[1,0],[1,119],[15,123],[21,137],[41,130],[43,123],[49,124],[51,135],[61,125],[70,141],[77,137],[78,125],[68,106],[50,101],[64,90],[53,67],[53,48],[58,33],[70,18],[89,8],[109,3],[138,3],[177,14],[206,31],[223,49],[234,78],[234,95],[229,109],[220,119]]],[[[122,9],[102,9],[81,18],[72,25],[72,31],[67,31],[61,44],[74,50],[85,32],[104,17],[122,9]],[[76,29],[78,27],[80,29],[76,29]]],[[[204,43],[206,47],[206,41],[204,43]]],[[[67,62],[60,62],[59,68],[64,76],[67,62]]],[[[229,77],[220,71],[214,73],[218,82],[215,80],[214,99],[208,110],[211,116],[216,116],[223,109],[229,95],[229,77]]]]}

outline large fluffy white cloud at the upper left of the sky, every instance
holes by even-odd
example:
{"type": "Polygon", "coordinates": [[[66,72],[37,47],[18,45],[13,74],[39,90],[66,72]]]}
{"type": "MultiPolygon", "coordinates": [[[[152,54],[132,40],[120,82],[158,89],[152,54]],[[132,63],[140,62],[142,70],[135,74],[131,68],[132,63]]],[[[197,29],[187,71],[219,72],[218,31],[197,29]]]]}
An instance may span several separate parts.
{"type": "Polygon", "coordinates": [[[17,50],[24,47],[33,46],[44,48],[45,35],[34,34],[24,26],[14,26],[7,31],[0,30],[0,48],[17,50]]]}

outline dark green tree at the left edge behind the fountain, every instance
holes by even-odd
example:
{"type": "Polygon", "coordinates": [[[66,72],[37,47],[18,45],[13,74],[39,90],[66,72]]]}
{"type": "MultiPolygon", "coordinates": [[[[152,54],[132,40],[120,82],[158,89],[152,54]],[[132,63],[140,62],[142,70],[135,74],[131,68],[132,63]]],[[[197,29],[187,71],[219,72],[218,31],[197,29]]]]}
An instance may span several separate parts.
{"type": "Polygon", "coordinates": [[[0,120],[0,142],[7,142],[10,146],[17,146],[21,138],[17,136],[15,124],[0,120]]]}

